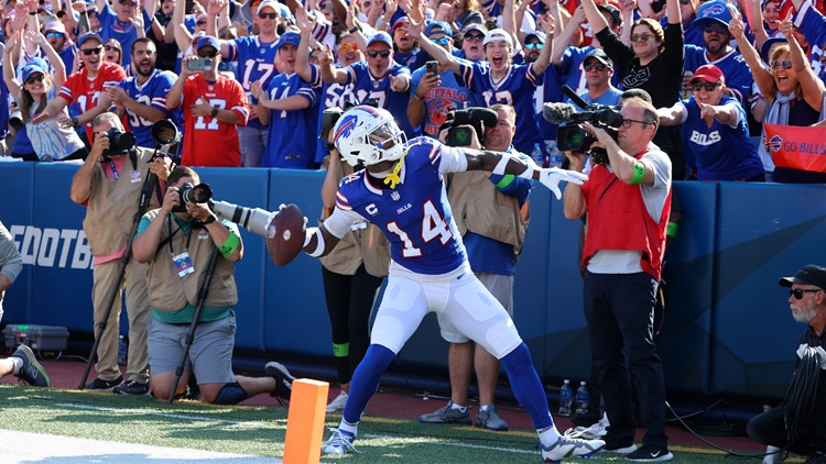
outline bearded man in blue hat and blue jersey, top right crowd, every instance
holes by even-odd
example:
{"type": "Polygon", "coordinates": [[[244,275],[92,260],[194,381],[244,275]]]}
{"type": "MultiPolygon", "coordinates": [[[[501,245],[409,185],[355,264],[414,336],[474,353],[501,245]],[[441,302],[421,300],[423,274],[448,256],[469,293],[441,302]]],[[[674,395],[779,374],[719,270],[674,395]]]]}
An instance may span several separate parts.
{"type": "MultiPolygon", "coordinates": [[[[740,104],[745,104],[751,93],[754,78],[742,55],[729,46],[731,35],[728,32],[728,22],[730,20],[731,11],[724,0],[709,1],[699,7],[694,26],[703,32],[703,42],[706,47],[686,44],[684,69],[694,73],[694,69],[703,65],[717,66],[726,76],[726,87],[740,100],[740,104]]],[[[686,77],[685,82],[688,80],[691,76],[686,77]]]]}

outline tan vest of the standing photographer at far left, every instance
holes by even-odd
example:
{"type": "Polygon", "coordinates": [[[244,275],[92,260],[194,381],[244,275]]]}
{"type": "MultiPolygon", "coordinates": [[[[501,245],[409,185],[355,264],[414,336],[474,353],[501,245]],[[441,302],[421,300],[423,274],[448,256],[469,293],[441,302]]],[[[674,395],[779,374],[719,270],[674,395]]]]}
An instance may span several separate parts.
{"type": "MultiPolygon", "coordinates": [[[[132,232],[143,179],[146,178],[148,163],[152,157],[149,150],[137,151],[137,164],[133,165],[127,155],[123,172],[118,172],[117,179],[107,177],[100,163],[93,169],[91,188],[84,218],[84,233],[89,241],[93,256],[109,256],[120,252],[126,247],[129,233],[132,232]],[[140,176],[137,177],[137,181],[132,181],[135,170],[140,176]]],[[[160,206],[154,195],[151,205],[153,208],[160,206]]]]}

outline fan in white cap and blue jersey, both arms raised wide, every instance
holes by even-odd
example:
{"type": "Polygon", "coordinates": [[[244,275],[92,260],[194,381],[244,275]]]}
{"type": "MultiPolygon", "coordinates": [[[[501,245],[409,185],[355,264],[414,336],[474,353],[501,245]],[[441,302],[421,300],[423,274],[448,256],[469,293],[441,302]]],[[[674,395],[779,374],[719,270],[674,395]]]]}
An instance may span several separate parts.
{"type": "MultiPolygon", "coordinates": [[[[509,1],[509,3],[511,3],[509,1]]],[[[553,36],[553,20],[543,22],[545,34],[553,36]]],[[[422,40],[422,24],[411,22],[410,34],[419,38],[422,48],[430,53],[442,68],[454,71],[457,82],[481,95],[485,104],[512,106],[517,110],[517,136],[513,146],[522,153],[531,153],[534,144],[541,142],[533,93],[543,84],[543,74],[551,63],[553,41],[542,47],[540,57],[528,65],[514,65],[513,37],[502,29],[488,31],[482,46],[487,62],[470,63],[457,58],[444,48],[427,40],[422,40]]]]}

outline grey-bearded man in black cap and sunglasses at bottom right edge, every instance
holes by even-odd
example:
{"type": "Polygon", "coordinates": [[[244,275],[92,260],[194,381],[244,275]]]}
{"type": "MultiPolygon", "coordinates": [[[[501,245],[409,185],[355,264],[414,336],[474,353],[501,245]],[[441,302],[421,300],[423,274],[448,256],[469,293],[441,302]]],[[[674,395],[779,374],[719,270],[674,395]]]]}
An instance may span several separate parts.
{"type": "MultiPolygon", "coordinates": [[[[803,426],[801,438],[793,441],[789,440],[791,430],[786,429],[785,416],[790,412],[789,408],[800,405],[783,405],[770,409],[749,420],[746,432],[749,438],[758,443],[768,444],[770,451],[782,453],[782,450],[789,450],[792,453],[808,455],[806,463],[826,463],[826,371],[823,367],[823,360],[826,358],[826,267],[809,264],[803,266],[794,277],[782,277],[780,286],[789,288],[789,308],[792,310],[792,318],[795,321],[807,324],[806,331],[801,335],[797,342],[798,361],[795,371],[795,378],[804,375],[816,376],[814,382],[817,385],[814,391],[811,391],[811,421],[803,426]],[[819,354],[820,365],[808,365],[816,369],[815,373],[802,372],[804,368],[804,358],[807,358],[807,352],[816,350],[819,354]],[[774,446],[774,450],[771,450],[774,446]],[[781,450],[778,450],[781,449],[781,450]]],[[[817,360],[817,354],[814,355],[817,360]]],[[[794,380],[793,380],[794,382],[794,380]]],[[[790,388],[791,390],[791,388],[790,388]]],[[[801,412],[798,412],[801,413],[801,412]]],[[[776,461],[780,462],[780,454],[776,454],[776,461]]]]}

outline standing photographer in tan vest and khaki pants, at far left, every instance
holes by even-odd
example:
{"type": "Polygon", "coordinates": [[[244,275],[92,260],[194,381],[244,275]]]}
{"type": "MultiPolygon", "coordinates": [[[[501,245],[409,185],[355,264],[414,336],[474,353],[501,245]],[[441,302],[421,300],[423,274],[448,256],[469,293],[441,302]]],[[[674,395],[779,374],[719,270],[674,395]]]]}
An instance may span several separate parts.
{"type": "MultiPolygon", "coordinates": [[[[95,338],[100,339],[97,350],[98,377],[85,386],[89,390],[112,390],[123,377],[118,368],[118,328],[120,327],[120,294],[126,286],[127,316],[129,317],[129,354],[127,376],[129,382],[116,393],[145,395],[149,391],[149,363],[146,358],[146,266],[129,262],[123,276],[119,273],[119,261],[127,242],[131,240],[131,227],[138,213],[141,196],[141,179],[154,173],[166,178],[169,161],[152,159],[152,151],[128,145],[123,125],[115,113],[106,112],[91,123],[95,142],[91,152],[72,179],[72,201],[86,207],[84,232],[94,256],[91,301],[94,307],[95,338]],[[115,139],[115,140],[113,140],[115,139]],[[135,181],[137,180],[137,181],[135,181]],[[117,281],[118,278],[120,281],[117,281]],[[108,297],[117,286],[118,298],[104,321],[108,309],[108,297]],[[99,327],[106,330],[99,333],[99,327]]],[[[153,192],[154,194],[154,192],[153,192]]],[[[153,195],[151,202],[160,202],[153,195]]]]}

